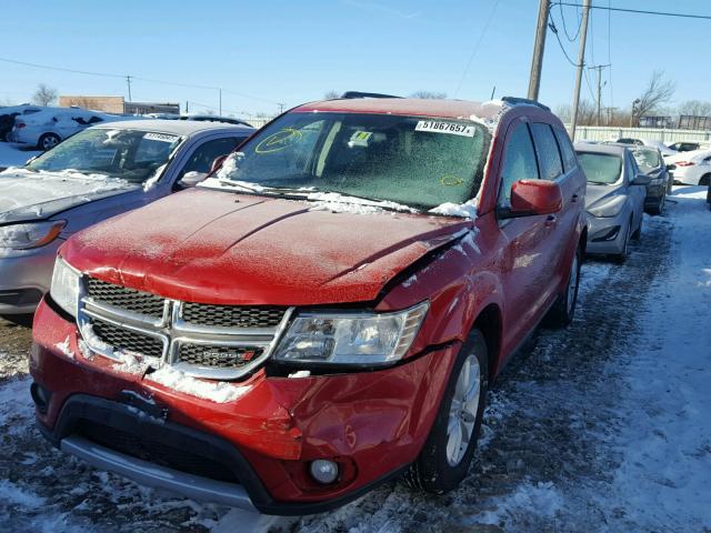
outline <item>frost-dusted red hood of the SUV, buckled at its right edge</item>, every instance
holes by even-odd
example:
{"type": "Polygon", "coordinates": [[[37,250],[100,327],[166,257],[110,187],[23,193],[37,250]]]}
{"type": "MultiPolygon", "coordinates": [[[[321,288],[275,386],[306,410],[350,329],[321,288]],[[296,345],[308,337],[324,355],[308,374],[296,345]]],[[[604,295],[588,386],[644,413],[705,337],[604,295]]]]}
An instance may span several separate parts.
{"type": "Polygon", "coordinates": [[[60,253],[104,281],[177,300],[307,305],[373,301],[469,220],[310,211],[194,189],[89,228],[60,253]]]}

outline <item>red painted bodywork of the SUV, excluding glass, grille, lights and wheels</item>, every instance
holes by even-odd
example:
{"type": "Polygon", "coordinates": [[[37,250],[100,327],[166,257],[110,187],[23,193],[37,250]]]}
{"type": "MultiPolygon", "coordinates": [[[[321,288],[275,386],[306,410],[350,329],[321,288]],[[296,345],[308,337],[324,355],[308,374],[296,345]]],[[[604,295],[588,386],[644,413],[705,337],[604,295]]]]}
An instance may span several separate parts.
{"type": "Polygon", "coordinates": [[[447,101],[339,100],[292,112],[321,111],[491,120],[477,219],[309,211],[302,201],[191,190],[90,228],[60,253],[101,280],[201,303],[391,311],[427,300],[429,312],[405,354],[410,360],[385,370],[300,379],[260,370],[236,385],[249,385],[249,392],[217,404],[121,374],[100,356],[68,359],[54,346],[69,338],[78,353],[76,325],[43,303],[31,372],[54,394],[47,415],[39,415],[42,423],[51,428],[71,394],[150,394],[170,408],[171,420],[232,443],[273,499],[323,501],[417,457],[461,342],[482,313],[489,316],[495,375],[565,286],[581,242],[585,187],[580,171],[555,180],[562,207],[552,220],[500,220],[494,207],[503,150],[518,123],[562,124],[534,105],[447,101]],[[331,487],[310,482],[304,465],[318,457],[342,461],[344,481],[331,487]]]}

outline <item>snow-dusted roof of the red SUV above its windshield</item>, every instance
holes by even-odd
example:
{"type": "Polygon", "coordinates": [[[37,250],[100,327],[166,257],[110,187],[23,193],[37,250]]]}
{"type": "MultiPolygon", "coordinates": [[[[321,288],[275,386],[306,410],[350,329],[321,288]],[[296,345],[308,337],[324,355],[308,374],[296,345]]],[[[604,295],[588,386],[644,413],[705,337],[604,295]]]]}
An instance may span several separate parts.
{"type": "Polygon", "coordinates": [[[507,107],[501,100],[470,102],[465,100],[418,98],[352,98],[304,103],[294,112],[391,113],[401,115],[440,117],[448,119],[494,120],[507,107]]]}

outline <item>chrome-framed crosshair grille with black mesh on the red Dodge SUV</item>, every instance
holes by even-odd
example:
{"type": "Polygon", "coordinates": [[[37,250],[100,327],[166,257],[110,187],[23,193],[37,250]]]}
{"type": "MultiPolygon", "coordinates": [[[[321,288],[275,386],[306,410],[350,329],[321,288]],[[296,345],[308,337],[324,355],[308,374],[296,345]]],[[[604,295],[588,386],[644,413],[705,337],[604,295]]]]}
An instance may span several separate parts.
{"type": "Polygon", "coordinates": [[[121,358],[116,352],[141,353],[159,361],[159,365],[169,364],[196,378],[237,380],[260,366],[271,355],[293,312],[293,308],[213,304],[206,304],[204,311],[198,308],[203,304],[161,299],[120,285],[113,285],[118,290],[112,292],[107,288],[110,283],[97,284],[89,276],[82,280],[77,316],[83,340],[92,351],[117,361],[121,358]],[[99,294],[92,293],[96,286],[101,288],[99,294]],[[138,305],[130,300],[131,291],[138,305]],[[160,305],[162,314],[158,315],[160,305]],[[184,312],[186,306],[189,313],[184,312]],[[144,312],[147,309],[150,314],[144,312]],[[214,309],[222,313],[219,325],[207,323],[214,309]],[[187,321],[186,316],[191,320],[199,316],[202,323],[187,321]],[[233,320],[236,316],[239,320],[233,320]],[[228,321],[238,325],[224,325],[228,321]],[[150,353],[144,353],[147,348],[150,353]],[[223,352],[239,356],[230,360],[221,356],[223,352]],[[187,353],[189,356],[183,356],[187,353]]]}

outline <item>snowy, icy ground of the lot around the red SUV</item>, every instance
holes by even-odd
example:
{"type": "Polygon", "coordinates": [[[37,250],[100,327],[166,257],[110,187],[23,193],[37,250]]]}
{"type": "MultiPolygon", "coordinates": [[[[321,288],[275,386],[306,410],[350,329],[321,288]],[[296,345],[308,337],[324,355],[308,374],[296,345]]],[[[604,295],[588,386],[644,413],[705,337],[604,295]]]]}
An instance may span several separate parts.
{"type": "Polygon", "coordinates": [[[675,188],[623,266],[585,263],[571,326],[541,331],[490,393],[460,490],[400,483],[276,519],[158,494],[32,426],[29,331],[0,324],[0,531],[710,532],[711,212],[675,188]]]}

